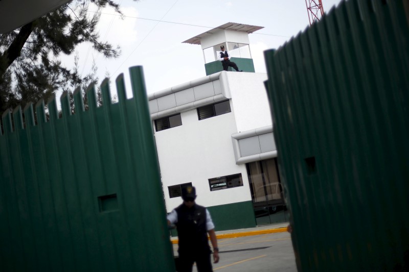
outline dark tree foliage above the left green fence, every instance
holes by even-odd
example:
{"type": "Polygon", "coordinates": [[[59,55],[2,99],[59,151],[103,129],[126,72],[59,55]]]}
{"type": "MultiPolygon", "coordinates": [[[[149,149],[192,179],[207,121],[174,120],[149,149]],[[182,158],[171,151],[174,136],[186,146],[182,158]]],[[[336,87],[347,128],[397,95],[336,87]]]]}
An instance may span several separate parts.
{"type": "MultiPolygon", "coordinates": [[[[134,0],[137,1],[137,0],[134,0]]],[[[96,67],[84,77],[59,60],[74,54],[81,43],[89,43],[105,58],[117,58],[120,48],[101,40],[97,24],[100,13],[90,15],[88,8],[111,7],[122,15],[111,0],[74,0],[47,15],[7,34],[0,34],[0,113],[47,99],[57,90],[72,91],[96,82],[96,67]]]]}

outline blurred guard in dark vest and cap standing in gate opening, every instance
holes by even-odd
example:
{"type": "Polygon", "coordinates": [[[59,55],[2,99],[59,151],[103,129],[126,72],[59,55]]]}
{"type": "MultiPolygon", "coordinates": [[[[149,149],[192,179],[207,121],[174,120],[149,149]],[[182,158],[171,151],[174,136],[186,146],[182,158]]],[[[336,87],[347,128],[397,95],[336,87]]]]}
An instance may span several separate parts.
{"type": "Polygon", "coordinates": [[[209,211],[195,203],[196,189],[193,186],[182,188],[183,203],[168,214],[168,225],[175,224],[179,238],[179,270],[191,272],[196,262],[198,272],[211,272],[210,241],[213,246],[214,263],[219,261],[219,249],[214,232],[214,224],[209,211]]]}

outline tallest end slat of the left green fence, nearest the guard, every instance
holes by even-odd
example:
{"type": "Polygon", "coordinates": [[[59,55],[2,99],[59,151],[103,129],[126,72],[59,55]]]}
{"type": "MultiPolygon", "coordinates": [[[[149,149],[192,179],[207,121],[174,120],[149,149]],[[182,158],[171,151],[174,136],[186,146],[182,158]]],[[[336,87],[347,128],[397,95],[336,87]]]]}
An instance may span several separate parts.
{"type": "MultiPolygon", "coordinates": [[[[135,163],[138,165],[137,182],[138,187],[143,188],[143,182],[149,182],[151,186],[147,187],[141,197],[142,203],[149,203],[150,210],[155,211],[156,216],[152,217],[152,212],[144,209],[144,214],[151,218],[150,224],[155,226],[149,228],[145,225],[148,231],[146,237],[149,237],[150,242],[158,246],[158,251],[152,248],[147,249],[149,263],[152,264],[152,270],[158,270],[161,267],[168,267],[170,271],[174,271],[174,261],[171,255],[171,243],[167,237],[167,222],[165,201],[163,198],[161,178],[159,175],[159,166],[157,160],[156,147],[152,137],[153,129],[149,114],[148,99],[146,95],[145,80],[142,66],[134,66],[129,68],[131,86],[133,93],[133,104],[135,107],[135,131],[134,135],[138,135],[138,140],[134,142],[134,149],[137,148],[144,156],[135,157],[135,163]],[[162,256],[156,258],[155,256],[162,256]]],[[[135,153],[133,153],[135,154],[135,153]]]]}

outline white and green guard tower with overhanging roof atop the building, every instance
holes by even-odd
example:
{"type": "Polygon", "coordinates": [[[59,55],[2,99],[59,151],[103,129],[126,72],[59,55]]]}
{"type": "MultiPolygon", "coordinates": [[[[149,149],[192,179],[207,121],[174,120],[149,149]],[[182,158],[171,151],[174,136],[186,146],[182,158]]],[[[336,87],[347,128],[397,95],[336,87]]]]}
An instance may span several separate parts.
{"type": "MultiPolygon", "coordinates": [[[[223,70],[218,61],[221,45],[224,45],[229,56],[232,57],[231,61],[235,62],[241,70],[255,72],[248,34],[263,28],[228,22],[184,42],[201,45],[207,76],[223,70]]],[[[232,71],[232,67],[229,67],[229,71],[232,71]]]]}

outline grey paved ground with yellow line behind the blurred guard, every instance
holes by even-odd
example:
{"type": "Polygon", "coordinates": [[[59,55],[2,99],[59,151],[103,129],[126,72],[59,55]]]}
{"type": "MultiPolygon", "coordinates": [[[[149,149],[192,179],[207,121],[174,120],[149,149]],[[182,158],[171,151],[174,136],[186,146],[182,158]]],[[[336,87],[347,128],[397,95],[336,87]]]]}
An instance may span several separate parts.
{"type": "MultiPolygon", "coordinates": [[[[219,239],[218,243],[220,261],[213,264],[215,271],[297,271],[287,232],[219,239]]],[[[177,256],[177,244],[173,245],[173,250],[177,256]]],[[[197,271],[196,267],[193,271],[197,271]]]]}

